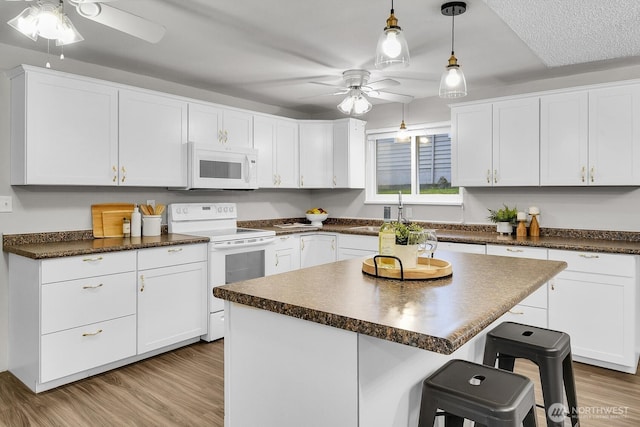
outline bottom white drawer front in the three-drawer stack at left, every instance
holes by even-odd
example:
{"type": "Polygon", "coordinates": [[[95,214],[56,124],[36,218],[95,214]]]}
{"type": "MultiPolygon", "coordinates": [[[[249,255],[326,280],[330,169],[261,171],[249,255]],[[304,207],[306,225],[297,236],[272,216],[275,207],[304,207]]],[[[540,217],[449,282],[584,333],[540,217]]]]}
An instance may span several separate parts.
{"type": "Polygon", "coordinates": [[[126,316],[41,338],[40,382],[136,354],[136,316],[126,316]]]}

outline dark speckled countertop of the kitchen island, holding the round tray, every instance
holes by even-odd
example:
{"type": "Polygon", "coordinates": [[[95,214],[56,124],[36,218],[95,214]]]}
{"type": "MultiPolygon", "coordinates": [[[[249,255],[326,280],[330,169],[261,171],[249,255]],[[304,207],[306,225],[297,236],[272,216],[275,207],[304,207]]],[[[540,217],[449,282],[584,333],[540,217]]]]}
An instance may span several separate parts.
{"type": "Polygon", "coordinates": [[[561,261],[441,251],[453,275],[398,281],[351,259],[214,288],[214,295],[424,350],[450,354],[560,271],[561,261]]]}

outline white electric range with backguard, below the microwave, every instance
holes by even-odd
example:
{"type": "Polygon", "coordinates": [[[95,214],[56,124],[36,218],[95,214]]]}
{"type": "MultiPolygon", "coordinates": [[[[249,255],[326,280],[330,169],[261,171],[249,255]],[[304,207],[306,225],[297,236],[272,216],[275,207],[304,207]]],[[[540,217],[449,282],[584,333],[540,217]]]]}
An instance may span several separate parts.
{"type": "Polygon", "coordinates": [[[238,228],[235,203],[174,203],[168,207],[169,233],[209,238],[209,326],[205,341],[224,336],[224,301],[213,288],[265,275],[265,256],[275,232],[238,228]]]}

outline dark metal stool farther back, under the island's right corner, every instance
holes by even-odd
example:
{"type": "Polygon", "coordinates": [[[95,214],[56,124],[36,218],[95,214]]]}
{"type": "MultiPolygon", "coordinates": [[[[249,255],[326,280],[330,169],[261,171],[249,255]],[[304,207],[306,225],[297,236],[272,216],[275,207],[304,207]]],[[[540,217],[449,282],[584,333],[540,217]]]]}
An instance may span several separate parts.
{"type": "Polygon", "coordinates": [[[578,426],[578,401],[569,335],[514,322],[504,322],[487,333],[485,365],[495,366],[498,359],[499,368],[513,371],[516,358],[528,359],[538,365],[547,425],[564,425],[564,385],[571,425],[578,426]]]}

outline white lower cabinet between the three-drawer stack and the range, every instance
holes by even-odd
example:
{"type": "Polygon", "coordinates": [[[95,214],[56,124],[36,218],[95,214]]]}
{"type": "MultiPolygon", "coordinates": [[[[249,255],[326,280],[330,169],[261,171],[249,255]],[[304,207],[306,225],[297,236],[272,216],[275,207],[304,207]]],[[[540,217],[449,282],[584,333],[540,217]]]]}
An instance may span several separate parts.
{"type": "Polygon", "coordinates": [[[138,252],[138,354],[207,333],[206,261],[206,245],[138,252]]]}

